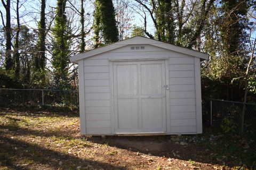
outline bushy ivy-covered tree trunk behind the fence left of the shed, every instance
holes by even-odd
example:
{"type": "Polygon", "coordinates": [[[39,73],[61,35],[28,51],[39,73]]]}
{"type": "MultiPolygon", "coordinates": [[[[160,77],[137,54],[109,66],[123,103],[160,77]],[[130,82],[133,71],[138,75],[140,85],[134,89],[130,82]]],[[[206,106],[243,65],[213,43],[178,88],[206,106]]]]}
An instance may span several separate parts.
{"type": "Polygon", "coordinates": [[[57,89],[69,89],[70,86],[68,78],[69,32],[65,8],[66,0],[58,0],[57,16],[53,28],[54,42],[52,57],[54,87],[57,89]]]}

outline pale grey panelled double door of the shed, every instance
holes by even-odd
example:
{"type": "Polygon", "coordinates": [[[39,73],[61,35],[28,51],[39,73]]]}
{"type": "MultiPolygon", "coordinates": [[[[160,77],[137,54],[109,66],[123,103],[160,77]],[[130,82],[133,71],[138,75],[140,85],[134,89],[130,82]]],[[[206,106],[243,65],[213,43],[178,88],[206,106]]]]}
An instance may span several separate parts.
{"type": "Polygon", "coordinates": [[[165,61],[114,62],[115,133],[165,133],[165,61]]]}

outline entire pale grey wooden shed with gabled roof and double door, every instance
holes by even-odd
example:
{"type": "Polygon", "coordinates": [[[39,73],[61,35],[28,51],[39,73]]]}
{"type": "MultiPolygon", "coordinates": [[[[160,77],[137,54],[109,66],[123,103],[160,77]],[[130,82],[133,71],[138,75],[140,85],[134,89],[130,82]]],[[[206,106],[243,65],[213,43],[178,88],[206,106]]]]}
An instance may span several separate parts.
{"type": "Polygon", "coordinates": [[[70,57],[78,63],[81,133],[202,133],[195,50],[136,36],[70,57]]]}

